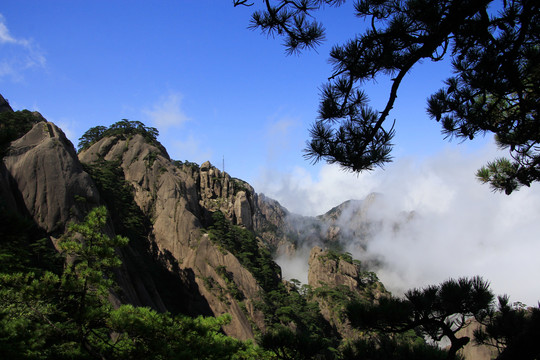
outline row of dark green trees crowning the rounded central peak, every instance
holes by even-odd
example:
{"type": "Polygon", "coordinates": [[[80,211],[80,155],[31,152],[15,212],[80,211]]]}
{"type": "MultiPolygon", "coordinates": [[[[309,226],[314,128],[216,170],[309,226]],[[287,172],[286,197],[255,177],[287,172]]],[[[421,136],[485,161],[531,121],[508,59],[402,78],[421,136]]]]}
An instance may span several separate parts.
{"type": "Polygon", "coordinates": [[[158,145],[157,137],[159,131],[156,128],[145,126],[140,121],[122,119],[108,128],[105,126],[95,126],[90,128],[79,138],[77,147],[79,151],[82,151],[108,136],[121,136],[126,138],[136,134],[142,135],[148,143],[158,145]]]}

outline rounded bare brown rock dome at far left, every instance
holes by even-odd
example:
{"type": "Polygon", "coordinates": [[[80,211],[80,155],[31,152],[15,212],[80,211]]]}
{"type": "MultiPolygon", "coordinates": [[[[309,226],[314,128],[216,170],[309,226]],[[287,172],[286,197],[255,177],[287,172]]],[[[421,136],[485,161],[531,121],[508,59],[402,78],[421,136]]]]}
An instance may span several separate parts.
{"type": "Polygon", "coordinates": [[[19,208],[47,233],[59,235],[100,200],[71,142],[56,125],[42,119],[36,115],[32,129],[10,144],[2,177],[9,179],[19,208]]]}

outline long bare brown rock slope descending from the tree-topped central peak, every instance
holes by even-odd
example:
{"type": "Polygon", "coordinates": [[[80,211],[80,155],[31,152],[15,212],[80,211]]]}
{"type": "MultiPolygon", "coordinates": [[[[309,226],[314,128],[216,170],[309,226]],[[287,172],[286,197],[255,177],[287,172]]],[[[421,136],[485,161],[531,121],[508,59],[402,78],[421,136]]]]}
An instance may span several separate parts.
{"type": "MultiPolygon", "coordinates": [[[[101,159],[118,162],[125,180],[133,186],[135,202],[151,220],[149,247],[157,249],[158,258],[169,259],[167,267],[177,266],[180,272],[193,274],[191,286],[205,299],[213,315],[232,315],[231,323],[225,327],[227,334],[248,339],[254,336],[251,322],[264,327],[262,314],[253,306],[261,292],[255,278],[234,255],[212,243],[202,231],[209,214],[217,210],[236,224],[250,227],[247,191],[238,191],[235,180],[209,162],[198,172],[175,165],[141,135],[104,138],[79,157],[87,164],[101,159]],[[231,274],[235,286],[244,294],[242,307],[230,292],[223,291],[230,285],[218,268],[231,274]]],[[[249,191],[254,193],[251,188],[249,191]]]]}

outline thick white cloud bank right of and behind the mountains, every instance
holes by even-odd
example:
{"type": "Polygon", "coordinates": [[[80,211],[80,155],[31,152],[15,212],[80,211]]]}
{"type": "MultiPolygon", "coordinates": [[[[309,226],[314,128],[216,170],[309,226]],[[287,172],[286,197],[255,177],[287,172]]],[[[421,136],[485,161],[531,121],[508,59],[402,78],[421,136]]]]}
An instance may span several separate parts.
{"type": "MultiPolygon", "coordinates": [[[[496,155],[490,145],[475,153],[449,149],[423,160],[398,159],[385,171],[360,176],[334,166],[323,166],[317,178],[303,169],[266,173],[256,189],[304,215],[381,193],[366,214],[382,224],[367,250],[358,246],[361,239],[344,245],[356,258],[381,260],[378,275],[391,291],[481,275],[496,294],[535,305],[540,300],[540,186],[506,196],[480,184],[476,170],[496,155]],[[415,216],[403,221],[410,211],[415,216]]],[[[305,276],[305,261],[300,269],[298,259],[291,265],[279,260],[287,268],[284,274],[305,276]]]]}

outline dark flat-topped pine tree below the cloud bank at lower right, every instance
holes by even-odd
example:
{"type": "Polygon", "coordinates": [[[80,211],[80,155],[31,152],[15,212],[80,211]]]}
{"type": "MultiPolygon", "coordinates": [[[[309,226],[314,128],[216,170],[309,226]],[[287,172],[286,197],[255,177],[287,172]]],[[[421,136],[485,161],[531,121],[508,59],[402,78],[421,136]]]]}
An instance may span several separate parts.
{"type": "Polygon", "coordinates": [[[381,298],[378,304],[353,302],[347,311],[351,324],[384,334],[419,331],[434,341],[447,338],[447,359],[470,341],[458,337],[471,317],[484,319],[491,309],[493,294],[480,277],[447,280],[439,285],[409,290],[405,298],[381,298]]]}

